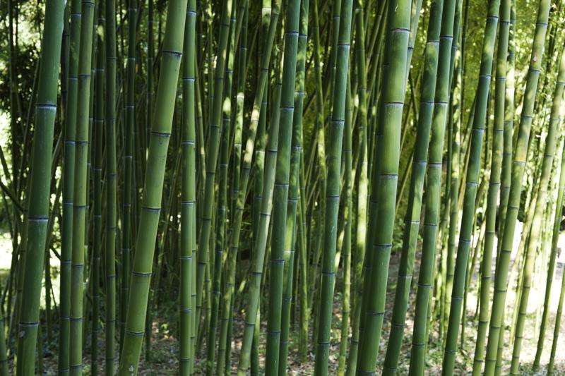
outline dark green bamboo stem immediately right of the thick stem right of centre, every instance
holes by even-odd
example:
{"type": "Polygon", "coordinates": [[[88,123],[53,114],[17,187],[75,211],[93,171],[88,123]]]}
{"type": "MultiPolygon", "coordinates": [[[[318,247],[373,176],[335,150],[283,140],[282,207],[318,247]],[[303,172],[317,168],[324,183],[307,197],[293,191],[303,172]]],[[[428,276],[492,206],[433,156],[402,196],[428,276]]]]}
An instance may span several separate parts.
{"type": "MultiPolygon", "coordinates": [[[[454,4],[453,1],[452,3],[454,4]]],[[[408,309],[408,296],[410,294],[410,286],[412,284],[416,243],[418,240],[418,230],[420,229],[422,194],[424,188],[424,174],[427,167],[429,135],[432,127],[432,114],[434,113],[436,77],[438,76],[436,73],[438,71],[438,57],[441,49],[439,37],[441,30],[441,15],[443,12],[444,1],[433,1],[430,8],[430,20],[428,23],[424,57],[424,77],[422,78],[420,112],[414,144],[415,150],[412,157],[408,207],[403,234],[403,248],[400,255],[400,267],[398,268],[396,293],[393,305],[391,334],[388,338],[388,346],[386,348],[383,375],[396,374],[396,368],[400,358],[400,348],[402,346],[404,336],[406,310],[408,309]]]]}

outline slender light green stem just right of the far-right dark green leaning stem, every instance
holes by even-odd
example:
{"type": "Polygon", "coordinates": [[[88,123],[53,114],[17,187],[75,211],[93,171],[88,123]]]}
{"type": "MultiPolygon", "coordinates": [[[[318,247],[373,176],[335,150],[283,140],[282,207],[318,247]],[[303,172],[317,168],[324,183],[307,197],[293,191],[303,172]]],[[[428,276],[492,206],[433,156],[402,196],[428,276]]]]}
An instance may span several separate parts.
{"type": "MultiPolygon", "coordinates": [[[[492,141],[492,159],[490,166],[489,192],[487,194],[487,229],[484,235],[484,248],[481,264],[480,313],[477,328],[475,357],[472,374],[480,375],[484,363],[484,346],[489,322],[490,286],[492,279],[492,249],[496,232],[496,201],[499,196],[502,153],[504,152],[504,120],[506,96],[506,56],[510,29],[510,0],[503,0],[500,8],[499,42],[496,52],[496,87],[494,91],[494,123],[492,141]]],[[[463,328],[461,329],[463,332],[463,328]]]]}

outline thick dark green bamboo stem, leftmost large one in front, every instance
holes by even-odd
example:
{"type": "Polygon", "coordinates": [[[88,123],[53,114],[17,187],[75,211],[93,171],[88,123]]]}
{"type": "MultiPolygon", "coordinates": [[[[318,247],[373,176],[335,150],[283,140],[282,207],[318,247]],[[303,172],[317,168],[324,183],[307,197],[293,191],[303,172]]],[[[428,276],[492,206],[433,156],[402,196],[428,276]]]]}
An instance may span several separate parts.
{"type": "Polygon", "coordinates": [[[42,31],[41,67],[35,104],[35,133],[32,142],[29,214],[27,217],[27,262],[24,273],[22,301],[18,315],[18,376],[35,375],[35,341],[40,317],[42,269],[51,187],[52,145],[57,111],[57,81],[61,59],[64,1],[47,1],[42,31]]]}

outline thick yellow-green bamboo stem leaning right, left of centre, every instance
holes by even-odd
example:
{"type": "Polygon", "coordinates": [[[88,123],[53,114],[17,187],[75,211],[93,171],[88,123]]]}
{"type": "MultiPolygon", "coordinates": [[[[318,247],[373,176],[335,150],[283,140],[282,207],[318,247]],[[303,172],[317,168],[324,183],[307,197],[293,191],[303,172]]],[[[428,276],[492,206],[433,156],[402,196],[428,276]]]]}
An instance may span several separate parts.
{"type": "Polygon", "coordinates": [[[124,344],[119,363],[119,375],[136,374],[138,369],[145,315],[147,313],[155,239],[160,217],[165,162],[172,127],[174,102],[177,94],[180,63],[186,21],[186,0],[170,1],[163,40],[163,53],[159,84],[151,128],[145,192],[141,205],[141,218],[136,240],[136,254],[131,275],[131,293],[128,300],[124,344]]]}

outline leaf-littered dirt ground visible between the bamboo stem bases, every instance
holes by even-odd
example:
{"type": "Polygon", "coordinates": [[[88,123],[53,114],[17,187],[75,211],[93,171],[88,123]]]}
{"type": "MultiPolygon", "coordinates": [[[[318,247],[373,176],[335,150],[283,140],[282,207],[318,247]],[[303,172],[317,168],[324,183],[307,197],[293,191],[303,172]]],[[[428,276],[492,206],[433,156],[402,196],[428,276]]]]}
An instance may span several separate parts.
{"type": "MultiPolygon", "coordinates": [[[[396,283],[396,268],[398,267],[398,259],[393,257],[391,260],[391,270],[389,274],[389,285],[388,285],[388,296],[387,296],[387,310],[383,325],[381,348],[379,354],[379,363],[377,364],[377,374],[380,373],[382,361],[384,359],[386,351],[386,343],[388,341],[388,332],[390,330],[390,315],[392,311],[392,303],[394,297],[394,284],[396,283]]],[[[523,375],[546,375],[546,366],[549,361],[549,352],[551,351],[552,339],[553,339],[553,328],[555,321],[555,312],[557,311],[557,300],[559,299],[559,288],[561,286],[561,278],[563,275],[563,265],[558,265],[556,276],[554,279],[554,288],[552,289],[552,313],[549,316],[549,323],[547,329],[547,335],[545,338],[544,353],[542,356],[542,367],[537,372],[531,370],[531,365],[535,358],[535,351],[537,347],[537,331],[535,328],[536,313],[533,312],[528,315],[528,320],[526,321],[526,327],[524,332],[523,348],[521,352],[521,373],[523,375]]],[[[472,356],[475,351],[475,336],[477,330],[477,319],[475,317],[475,308],[477,306],[477,301],[475,294],[477,291],[476,286],[477,275],[475,273],[473,282],[471,284],[471,291],[469,295],[469,301],[466,315],[466,325],[465,325],[465,343],[463,350],[458,352],[456,358],[456,375],[470,375],[470,369],[472,368],[472,356]]],[[[334,299],[334,319],[333,319],[333,329],[332,329],[332,346],[330,355],[330,375],[337,375],[338,367],[338,352],[339,352],[339,339],[340,339],[340,318],[341,318],[341,285],[340,279],[336,282],[336,293],[334,299]]],[[[403,342],[402,358],[399,363],[398,375],[408,375],[408,367],[410,365],[410,333],[412,332],[413,315],[414,315],[414,298],[415,291],[411,294],[411,309],[408,310],[407,317],[407,327],[403,342]]],[[[513,293],[509,293],[507,307],[513,306],[514,301],[513,293]]],[[[148,362],[145,360],[145,356],[142,355],[141,363],[139,366],[139,375],[177,375],[178,360],[177,360],[177,350],[178,341],[176,335],[176,315],[174,308],[174,302],[169,308],[165,308],[162,312],[159,312],[158,317],[153,320],[153,336],[152,336],[152,346],[151,346],[151,360],[148,362]]],[[[242,329],[243,329],[243,315],[239,313],[234,320],[234,338],[233,338],[233,353],[232,353],[232,374],[236,372],[237,360],[239,355],[239,346],[242,340],[242,329]]],[[[262,327],[266,326],[266,315],[262,317],[262,327]]],[[[312,325],[310,324],[310,330],[312,325]]],[[[293,329],[294,330],[294,329],[293,329]]],[[[266,332],[266,328],[262,328],[262,333],[266,332]]],[[[102,331],[103,333],[103,331],[102,331]]],[[[509,330],[506,330],[505,342],[509,343],[509,330]]],[[[313,375],[314,374],[314,349],[309,348],[308,359],[306,363],[302,363],[299,360],[298,353],[296,351],[297,346],[295,346],[295,339],[297,335],[290,336],[290,352],[289,352],[289,375],[313,375]]],[[[90,339],[89,339],[90,341],[90,339]]],[[[264,350],[265,350],[265,336],[261,336],[261,347],[260,347],[260,362],[261,367],[264,365],[264,350]]],[[[311,343],[312,341],[310,341],[311,343]]],[[[205,348],[206,346],[203,346],[205,348]]],[[[100,336],[99,339],[99,361],[98,372],[103,375],[104,370],[104,339],[100,336]]],[[[84,358],[84,374],[91,375],[91,365],[90,365],[90,346],[87,345],[86,354],[84,358]]],[[[509,372],[509,359],[511,359],[511,348],[506,347],[504,351],[504,368],[503,375],[509,372]]],[[[46,355],[44,358],[44,375],[56,375],[57,374],[57,356],[56,356],[56,346],[55,344],[50,344],[47,346],[46,355]]],[[[441,375],[441,360],[442,360],[442,348],[439,344],[437,338],[437,330],[434,328],[432,343],[428,349],[428,375],[441,375]]],[[[206,358],[205,353],[201,353],[198,356],[198,363],[196,365],[196,375],[203,375],[203,369],[205,366],[204,359],[206,358]]],[[[561,335],[559,336],[559,346],[556,356],[556,369],[554,375],[565,375],[565,320],[561,320],[561,335]]]]}

